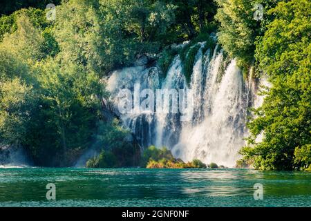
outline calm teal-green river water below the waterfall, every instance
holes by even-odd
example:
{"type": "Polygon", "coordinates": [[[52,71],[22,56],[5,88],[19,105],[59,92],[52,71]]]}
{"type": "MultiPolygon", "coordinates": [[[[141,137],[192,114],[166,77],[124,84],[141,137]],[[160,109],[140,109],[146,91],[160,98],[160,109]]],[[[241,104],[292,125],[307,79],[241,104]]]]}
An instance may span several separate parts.
{"type": "Polygon", "coordinates": [[[0,206],[311,206],[311,173],[1,168],[0,206]],[[46,199],[46,185],[56,200],[46,199]],[[254,200],[254,184],[263,200],[254,200]]]}

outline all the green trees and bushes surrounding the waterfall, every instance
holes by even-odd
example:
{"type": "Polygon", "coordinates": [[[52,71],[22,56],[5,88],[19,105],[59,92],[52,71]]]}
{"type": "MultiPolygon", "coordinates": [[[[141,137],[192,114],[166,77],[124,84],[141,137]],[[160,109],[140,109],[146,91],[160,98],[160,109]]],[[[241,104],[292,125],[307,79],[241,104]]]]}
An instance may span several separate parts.
{"type": "Polygon", "coordinates": [[[209,36],[217,32],[244,73],[254,66],[254,76],[270,82],[247,125],[240,164],[310,170],[310,1],[54,1],[52,20],[47,3],[1,3],[0,146],[23,148],[36,166],[72,166],[95,146],[91,167],[204,167],[167,149],[141,153],[122,122],[103,111],[109,93],[100,79],[141,55],[156,57],[165,76],[179,54],[190,81],[196,43],[214,47],[209,36]],[[184,41],[190,43],[172,47],[184,41]]]}

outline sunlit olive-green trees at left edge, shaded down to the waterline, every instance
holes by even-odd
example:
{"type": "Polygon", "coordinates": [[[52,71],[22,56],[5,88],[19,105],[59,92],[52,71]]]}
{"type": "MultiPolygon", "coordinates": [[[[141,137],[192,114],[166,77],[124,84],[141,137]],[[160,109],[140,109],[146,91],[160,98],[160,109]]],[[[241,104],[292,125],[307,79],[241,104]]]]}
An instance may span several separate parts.
{"type": "Polygon", "coordinates": [[[93,142],[105,93],[97,73],[62,57],[45,15],[17,11],[2,35],[0,140],[36,165],[68,166],[93,142]]]}

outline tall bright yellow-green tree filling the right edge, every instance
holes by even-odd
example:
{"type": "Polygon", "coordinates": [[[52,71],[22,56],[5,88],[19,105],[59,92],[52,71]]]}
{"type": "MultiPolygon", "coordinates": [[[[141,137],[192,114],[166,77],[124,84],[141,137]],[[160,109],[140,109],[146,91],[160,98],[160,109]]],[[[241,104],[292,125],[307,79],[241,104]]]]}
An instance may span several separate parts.
{"type": "Polygon", "coordinates": [[[305,168],[308,162],[299,160],[299,150],[311,143],[310,8],[306,0],[280,2],[270,10],[275,19],[256,48],[260,66],[272,83],[249,123],[249,145],[241,150],[245,157],[254,158],[256,169],[292,170],[305,168]]]}

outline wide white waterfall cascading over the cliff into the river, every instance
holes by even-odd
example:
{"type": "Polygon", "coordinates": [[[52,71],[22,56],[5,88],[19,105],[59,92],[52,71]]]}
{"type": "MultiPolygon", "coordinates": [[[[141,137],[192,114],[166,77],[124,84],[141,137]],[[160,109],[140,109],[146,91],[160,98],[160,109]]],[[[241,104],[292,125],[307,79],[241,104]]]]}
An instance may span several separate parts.
{"type": "Polygon", "coordinates": [[[120,118],[142,148],[167,146],[184,161],[199,159],[233,167],[245,144],[247,110],[256,100],[256,82],[252,77],[243,79],[236,61],[227,61],[218,46],[214,50],[206,50],[205,42],[198,46],[189,84],[176,55],[164,79],[158,67],[123,68],[112,73],[107,88],[115,106],[120,89],[134,91],[135,84],[140,84],[140,90],[191,89],[193,117],[189,121],[180,120],[176,113],[119,113],[120,118]]]}

